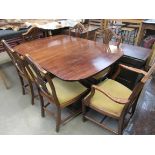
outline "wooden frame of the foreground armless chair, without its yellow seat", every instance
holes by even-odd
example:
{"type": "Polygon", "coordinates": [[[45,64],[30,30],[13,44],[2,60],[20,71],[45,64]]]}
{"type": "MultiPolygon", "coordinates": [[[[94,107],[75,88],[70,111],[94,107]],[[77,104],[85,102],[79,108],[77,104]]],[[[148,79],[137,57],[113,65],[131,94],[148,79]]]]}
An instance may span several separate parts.
{"type": "Polygon", "coordinates": [[[36,85],[38,86],[38,92],[39,92],[39,98],[40,98],[40,104],[41,104],[41,116],[45,117],[45,111],[51,114],[55,118],[55,121],[56,121],[56,132],[59,132],[60,125],[65,124],[67,121],[71,120],[72,118],[77,116],[79,113],[81,113],[81,109],[76,110],[75,112],[72,111],[72,113],[66,118],[64,118],[63,120],[61,118],[61,111],[64,108],[70,106],[71,104],[81,101],[82,98],[86,96],[86,94],[88,94],[88,90],[82,93],[81,95],[79,95],[78,97],[73,98],[70,101],[67,101],[67,103],[62,106],[59,102],[59,99],[57,97],[57,93],[56,93],[56,90],[55,90],[55,87],[52,81],[52,79],[55,76],[45,71],[43,68],[41,68],[40,65],[34,62],[28,54],[25,55],[24,60],[27,63],[28,71],[30,72],[31,76],[34,78],[34,81],[36,82],[36,85]],[[34,75],[32,70],[30,69],[30,66],[34,70],[36,75],[34,75]],[[52,94],[48,91],[46,87],[47,82],[50,86],[52,94]],[[44,103],[44,98],[47,99],[48,101],[47,104],[44,103]],[[47,107],[50,104],[54,104],[56,106],[56,109],[57,109],[56,112],[51,112],[47,109],[47,107]]]}

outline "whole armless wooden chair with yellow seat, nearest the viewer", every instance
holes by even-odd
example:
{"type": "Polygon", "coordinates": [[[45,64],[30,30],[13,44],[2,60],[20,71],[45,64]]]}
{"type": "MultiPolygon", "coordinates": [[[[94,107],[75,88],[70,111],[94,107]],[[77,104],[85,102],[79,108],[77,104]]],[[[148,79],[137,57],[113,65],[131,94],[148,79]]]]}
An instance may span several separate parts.
{"type": "Polygon", "coordinates": [[[81,112],[81,109],[75,111],[70,109],[71,114],[62,119],[62,110],[74,103],[81,102],[81,99],[88,94],[88,89],[79,82],[63,81],[55,77],[41,68],[28,54],[26,54],[24,59],[31,76],[38,86],[41,116],[45,116],[45,111],[53,115],[56,120],[56,132],[58,132],[61,124],[66,123],[81,112]],[[32,72],[30,67],[34,72],[32,72]],[[47,104],[44,103],[45,99],[47,104]],[[56,111],[51,112],[48,109],[51,104],[55,105],[56,111]]]}

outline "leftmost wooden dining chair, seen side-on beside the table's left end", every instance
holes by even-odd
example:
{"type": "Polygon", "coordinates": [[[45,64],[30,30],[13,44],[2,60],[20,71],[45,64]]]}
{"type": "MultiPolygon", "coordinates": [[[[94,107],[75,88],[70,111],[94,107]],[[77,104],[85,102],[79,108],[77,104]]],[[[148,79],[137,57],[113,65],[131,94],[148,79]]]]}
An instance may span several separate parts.
{"type": "Polygon", "coordinates": [[[34,104],[34,89],[33,89],[33,79],[30,76],[29,72],[27,71],[27,69],[25,68],[25,64],[23,61],[23,57],[21,55],[19,55],[16,51],[14,51],[5,40],[1,41],[6,52],[8,53],[8,55],[10,56],[13,65],[15,66],[16,70],[17,70],[17,74],[18,77],[20,79],[21,82],[21,86],[22,86],[22,93],[23,95],[25,95],[26,93],[26,88],[29,87],[30,88],[30,93],[31,93],[31,103],[32,105],[34,104]]]}

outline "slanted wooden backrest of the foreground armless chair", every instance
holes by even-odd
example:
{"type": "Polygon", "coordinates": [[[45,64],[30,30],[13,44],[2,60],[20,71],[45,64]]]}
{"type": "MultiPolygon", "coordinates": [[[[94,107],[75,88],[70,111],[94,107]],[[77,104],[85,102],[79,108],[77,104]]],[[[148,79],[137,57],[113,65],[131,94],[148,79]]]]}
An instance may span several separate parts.
{"type": "Polygon", "coordinates": [[[56,96],[56,91],[54,84],[52,82],[52,78],[54,76],[49,72],[45,71],[41,66],[36,63],[28,54],[24,57],[25,66],[36,83],[37,87],[41,92],[48,98],[52,99],[54,103],[59,104],[58,98],[56,96]],[[50,94],[47,89],[46,84],[49,84],[52,94],[50,94]]]}

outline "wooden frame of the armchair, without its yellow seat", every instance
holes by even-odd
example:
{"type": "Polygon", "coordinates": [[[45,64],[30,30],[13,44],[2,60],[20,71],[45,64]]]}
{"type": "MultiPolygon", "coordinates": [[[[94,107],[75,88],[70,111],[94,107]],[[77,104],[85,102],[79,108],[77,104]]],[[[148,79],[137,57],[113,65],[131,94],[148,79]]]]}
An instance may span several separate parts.
{"type": "Polygon", "coordinates": [[[138,97],[139,97],[139,95],[140,95],[140,93],[141,93],[141,91],[143,89],[144,84],[146,83],[148,78],[151,76],[151,74],[155,70],[155,63],[153,64],[153,66],[150,68],[150,70],[148,72],[145,72],[143,70],[136,69],[136,68],[133,68],[133,67],[128,67],[128,66],[119,64],[118,70],[116,71],[116,73],[112,77],[113,80],[115,80],[116,77],[119,75],[121,69],[130,70],[130,71],[136,72],[138,74],[144,75],[143,78],[141,79],[141,81],[139,81],[139,83],[132,90],[132,93],[129,96],[129,98],[122,99],[122,98],[113,97],[110,93],[106,92],[105,90],[101,89],[98,86],[93,85],[92,88],[91,88],[91,93],[85,99],[83,99],[83,104],[82,104],[83,121],[90,120],[90,121],[98,124],[102,128],[105,128],[105,129],[107,129],[107,130],[109,130],[109,131],[111,131],[111,132],[113,132],[115,134],[122,134],[123,133],[125,125],[127,125],[128,121],[130,120],[130,118],[132,117],[132,115],[133,115],[133,113],[135,111],[137,100],[138,100],[138,97]],[[113,116],[112,114],[105,113],[102,110],[97,109],[97,108],[91,106],[90,100],[93,97],[93,95],[95,94],[95,91],[100,91],[101,93],[106,95],[108,98],[110,98],[114,102],[117,102],[119,104],[125,104],[125,106],[124,106],[124,108],[123,108],[123,110],[121,112],[120,117],[116,117],[116,116],[113,116]],[[117,119],[118,120],[118,130],[114,131],[111,128],[107,127],[103,122],[98,122],[95,119],[93,119],[91,116],[86,115],[87,114],[87,110],[89,108],[94,109],[95,111],[97,111],[100,114],[103,114],[105,116],[117,119]],[[130,114],[130,118],[128,119],[127,123],[125,124],[125,116],[128,113],[130,114]]]}

